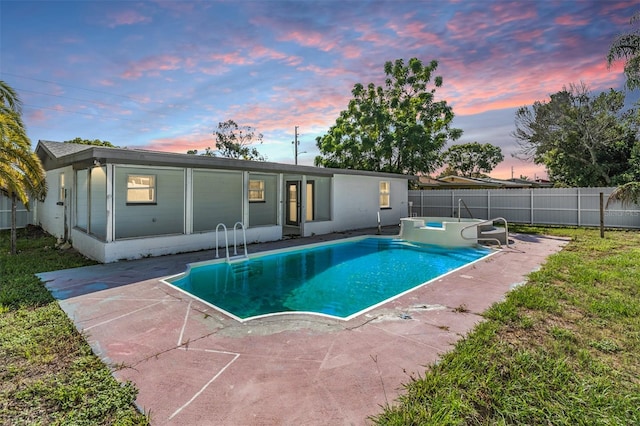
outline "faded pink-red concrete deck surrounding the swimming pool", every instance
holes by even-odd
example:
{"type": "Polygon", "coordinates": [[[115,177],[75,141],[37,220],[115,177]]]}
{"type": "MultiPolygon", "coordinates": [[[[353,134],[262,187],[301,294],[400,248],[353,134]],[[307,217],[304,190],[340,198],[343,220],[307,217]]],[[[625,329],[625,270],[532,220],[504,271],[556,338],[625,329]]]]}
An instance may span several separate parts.
{"type": "MultiPolygon", "coordinates": [[[[249,255],[366,233],[376,229],[254,244],[249,255]]],[[[153,425],[364,425],[567,243],[511,241],[346,322],[284,315],[239,323],[159,281],[212,251],[38,276],[114,375],[135,383],[153,425]]]]}

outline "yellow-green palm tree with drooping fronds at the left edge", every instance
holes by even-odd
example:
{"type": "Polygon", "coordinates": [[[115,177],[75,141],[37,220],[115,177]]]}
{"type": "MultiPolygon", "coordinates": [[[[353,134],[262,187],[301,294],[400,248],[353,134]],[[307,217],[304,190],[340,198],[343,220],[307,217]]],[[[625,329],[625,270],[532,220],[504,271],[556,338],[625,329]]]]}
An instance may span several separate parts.
{"type": "Polygon", "coordinates": [[[29,197],[47,193],[45,172],[31,151],[22,122],[18,94],[0,80],[0,191],[11,198],[11,253],[16,253],[16,210],[20,200],[29,209],[29,197]]]}

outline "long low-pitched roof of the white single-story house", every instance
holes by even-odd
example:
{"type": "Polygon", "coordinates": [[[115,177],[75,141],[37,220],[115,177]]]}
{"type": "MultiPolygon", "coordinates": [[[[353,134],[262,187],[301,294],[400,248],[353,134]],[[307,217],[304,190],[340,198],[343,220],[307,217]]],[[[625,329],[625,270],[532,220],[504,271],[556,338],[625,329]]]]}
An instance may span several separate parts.
{"type": "Polygon", "coordinates": [[[35,149],[45,170],[73,166],[74,169],[91,167],[95,164],[132,164],[146,166],[194,167],[205,169],[246,170],[252,172],[295,173],[316,176],[334,174],[377,176],[388,178],[417,179],[413,176],[395,173],[381,173],[365,170],[330,169],[313,166],[272,163],[267,161],[236,160],[233,158],[209,157],[194,154],[150,151],[131,148],[112,148],[67,142],[40,140],[35,149]]]}

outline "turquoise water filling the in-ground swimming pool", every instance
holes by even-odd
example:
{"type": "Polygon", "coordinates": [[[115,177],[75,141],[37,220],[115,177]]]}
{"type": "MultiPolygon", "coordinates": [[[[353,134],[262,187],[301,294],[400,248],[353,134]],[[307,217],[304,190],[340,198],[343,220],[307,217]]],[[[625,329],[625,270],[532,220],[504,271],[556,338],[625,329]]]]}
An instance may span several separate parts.
{"type": "Polygon", "coordinates": [[[280,312],[347,318],[490,252],[366,238],[199,265],[167,281],[242,320],[280,312]]]}

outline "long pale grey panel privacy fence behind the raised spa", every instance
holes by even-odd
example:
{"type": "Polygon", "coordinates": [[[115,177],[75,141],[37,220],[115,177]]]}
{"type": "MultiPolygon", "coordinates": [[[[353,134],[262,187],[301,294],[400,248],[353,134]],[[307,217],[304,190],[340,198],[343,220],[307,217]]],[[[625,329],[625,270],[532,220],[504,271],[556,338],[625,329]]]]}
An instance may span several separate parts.
{"type": "MultiPolygon", "coordinates": [[[[615,188],[443,189],[409,191],[411,216],[469,217],[532,225],[600,226],[600,193],[606,204],[615,188]],[[459,200],[463,200],[464,204],[459,200]],[[469,211],[464,206],[469,208],[469,211]]],[[[640,206],[612,203],[604,226],[640,228],[640,206]]]]}

